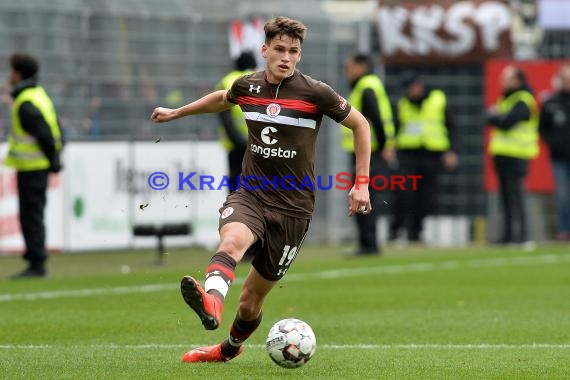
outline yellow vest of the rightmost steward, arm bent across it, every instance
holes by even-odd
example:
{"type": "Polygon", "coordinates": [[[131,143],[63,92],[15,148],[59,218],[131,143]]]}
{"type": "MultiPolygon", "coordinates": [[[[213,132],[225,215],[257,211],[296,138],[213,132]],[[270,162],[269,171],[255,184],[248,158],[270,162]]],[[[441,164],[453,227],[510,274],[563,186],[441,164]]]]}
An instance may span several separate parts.
{"type": "Polygon", "coordinates": [[[530,160],[538,156],[538,105],[528,91],[520,90],[497,101],[499,114],[508,114],[515,104],[524,102],[530,110],[530,118],[521,121],[512,128],[491,131],[489,153],[493,156],[508,156],[530,160]]]}

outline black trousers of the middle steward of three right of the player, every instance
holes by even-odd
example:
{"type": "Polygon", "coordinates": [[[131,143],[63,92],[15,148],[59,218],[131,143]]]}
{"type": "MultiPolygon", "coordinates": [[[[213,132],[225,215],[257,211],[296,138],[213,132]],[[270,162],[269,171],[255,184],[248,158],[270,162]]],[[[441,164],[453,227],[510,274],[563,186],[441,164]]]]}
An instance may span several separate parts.
{"type": "Polygon", "coordinates": [[[437,201],[437,180],[441,173],[441,153],[427,150],[398,151],[398,175],[420,175],[413,189],[411,180],[406,181],[406,189],[395,189],[394,213],[390,225],[390,237],[406,227],[408,240],[420,240],[423,221],[434,211],[437,201]]]}

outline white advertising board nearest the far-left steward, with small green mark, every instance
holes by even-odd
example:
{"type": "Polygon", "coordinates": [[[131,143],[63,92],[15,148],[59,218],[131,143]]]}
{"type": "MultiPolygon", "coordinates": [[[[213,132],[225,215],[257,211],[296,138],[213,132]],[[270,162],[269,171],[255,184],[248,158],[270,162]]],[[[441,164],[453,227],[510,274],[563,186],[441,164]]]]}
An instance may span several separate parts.
{"type": "Polygon", "coordinates": [[[69,143],[64,150],[65,250],[131,244],[129,194],[123,174],[128,143],[69,143]]]}

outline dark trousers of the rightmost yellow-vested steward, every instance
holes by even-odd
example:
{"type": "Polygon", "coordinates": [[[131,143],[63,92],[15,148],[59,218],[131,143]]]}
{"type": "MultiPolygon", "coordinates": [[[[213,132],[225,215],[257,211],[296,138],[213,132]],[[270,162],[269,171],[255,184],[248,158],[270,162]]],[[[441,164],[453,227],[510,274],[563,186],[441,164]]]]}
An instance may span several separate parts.
{"type": "Polygon", "coordinates": [[[505,156],[495,156],[493,159],[504,214],[501,242],[525,242],[528,240],[528,231],[524,179],[528,172],[528,160],[505,156]]]}

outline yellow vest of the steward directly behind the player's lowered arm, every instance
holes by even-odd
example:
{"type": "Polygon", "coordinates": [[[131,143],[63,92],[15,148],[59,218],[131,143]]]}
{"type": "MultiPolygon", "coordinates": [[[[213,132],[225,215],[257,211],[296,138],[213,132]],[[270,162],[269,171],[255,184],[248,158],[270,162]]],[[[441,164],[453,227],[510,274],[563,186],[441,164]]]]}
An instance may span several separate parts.
{"type": "MultiPolygon", "coordinates": [[[[384,85],[378,76],[369,74],[365,75],[356,82],[356,85],[350,92],[348,97],[348,102],[356,108],[358,111],[362,112],[362,95],[366,89],[372,89],[374,95],[376,95],[376,100],[378,101],[378,110],[380,111],[380,117],[382,118],[382,123],[384,125],[384,134],[386,135],[385,147],[394,147],[394,120],[392,118],[392,107],[390,106],[390,99],[386,95],[386,90],[384,85]]],[[[370,120],[368,120],[370,124],[370,120]]],[[[348,128],[341,129],[341,147],[347,152],[354,152],[354,140],[352,131],[348,128]]],[[[374,128],[370,127],[371,133],[371,150],[372,152],[378,149],[378,139],[376,137],[376,131],[374,128]]]]}

